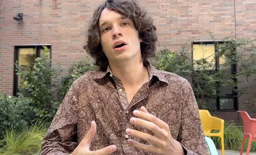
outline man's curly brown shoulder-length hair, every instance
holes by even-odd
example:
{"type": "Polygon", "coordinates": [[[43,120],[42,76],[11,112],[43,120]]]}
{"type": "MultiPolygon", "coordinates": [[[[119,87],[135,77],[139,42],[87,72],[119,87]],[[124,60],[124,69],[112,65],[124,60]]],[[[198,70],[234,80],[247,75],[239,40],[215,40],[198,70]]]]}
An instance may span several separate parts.
{"type": "Polygon", "coordinates": [[[140,49],[143,64],[149,58],[155,57],[155,44],[157,42],[156,27],[153,25],[153,19],[148,16],[147,11],[141,8],[136,0],[107,0],[104,4],[99,5],[93,12],[88,29],[86,32],[87,42],[84,49],[95,60],[95,64],[99,66],[101,71],[106,71],[109,60],[104,52],[102,52],[101,37],[99,31],[99,18],[103,9],[109,9],[120,13],[124,17],[134,22],[136,30],[138,30],[139,38],[142,38],[140,49]]]}

